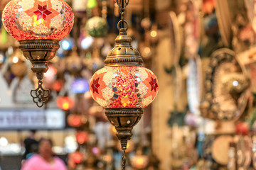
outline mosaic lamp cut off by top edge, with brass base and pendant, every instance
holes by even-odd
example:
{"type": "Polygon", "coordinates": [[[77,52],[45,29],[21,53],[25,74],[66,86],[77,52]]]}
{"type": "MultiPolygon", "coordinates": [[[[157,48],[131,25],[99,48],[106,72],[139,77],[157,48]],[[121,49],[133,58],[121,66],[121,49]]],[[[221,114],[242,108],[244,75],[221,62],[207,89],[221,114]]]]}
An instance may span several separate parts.
{"type": "Polygon", "coordinates": [[[73,28],[73,11],[62,0],[12,0],[4,8],[2,21],[32,63],[38,88],[31,91],[31,96],[42,107],[50,95],[42,86],[43,73],[48,70],[48,61],[55,57],[59,41],[73,28]]]}

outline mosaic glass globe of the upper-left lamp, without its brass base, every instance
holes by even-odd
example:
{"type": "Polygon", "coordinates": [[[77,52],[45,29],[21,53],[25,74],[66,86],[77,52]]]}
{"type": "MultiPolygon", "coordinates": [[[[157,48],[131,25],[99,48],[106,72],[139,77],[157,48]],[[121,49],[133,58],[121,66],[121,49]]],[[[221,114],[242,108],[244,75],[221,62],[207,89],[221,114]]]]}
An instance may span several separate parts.
{"type": "Polygon", "coordinates": [[[16,40],[61,40],[73,28],[73,18],[61,0],[13,0],[4,8],[2,21],[16,40]]]}

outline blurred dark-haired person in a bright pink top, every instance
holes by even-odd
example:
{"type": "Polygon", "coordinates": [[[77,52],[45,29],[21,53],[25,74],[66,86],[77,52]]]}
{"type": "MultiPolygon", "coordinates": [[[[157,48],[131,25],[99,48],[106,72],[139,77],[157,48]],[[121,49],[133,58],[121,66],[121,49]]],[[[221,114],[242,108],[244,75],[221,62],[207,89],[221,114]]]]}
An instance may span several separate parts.
{"type": "Polygon", "coordinates": [[[38,145],[39,154],[33,154],[21,167],[21,170],[67,170],[62,159],[53,156],[53,142],[42,138],[38,145]]]}

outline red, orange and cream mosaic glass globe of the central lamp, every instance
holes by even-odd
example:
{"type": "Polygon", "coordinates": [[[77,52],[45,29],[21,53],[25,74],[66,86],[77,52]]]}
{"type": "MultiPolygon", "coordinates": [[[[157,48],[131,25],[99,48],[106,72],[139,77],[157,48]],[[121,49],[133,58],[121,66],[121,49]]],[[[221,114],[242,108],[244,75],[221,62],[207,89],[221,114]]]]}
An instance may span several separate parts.
{"type": "Polygon", "coordinates": [[[104,108],[144,108],[158,89],[156,76],[144,67],[105,67],[90,82],[92,97],[104,108]]]}

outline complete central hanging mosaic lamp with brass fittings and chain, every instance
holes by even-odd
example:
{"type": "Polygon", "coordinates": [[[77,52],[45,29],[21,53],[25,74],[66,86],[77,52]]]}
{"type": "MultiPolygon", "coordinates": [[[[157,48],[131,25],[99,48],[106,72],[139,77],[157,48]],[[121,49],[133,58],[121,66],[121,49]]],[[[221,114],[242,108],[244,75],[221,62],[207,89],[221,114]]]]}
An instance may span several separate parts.
{"type": "Polygon", "coordinates": [[[116,45],[107,55],[105,67],[98,70],[90,81],[92,97],[105,108],[108,120],[117,130],[124,151],[122,169],[125,169],[125,150],[132,137],[132,128],[142,117],[142,108],[154,101],[159,89],[156,76],[142,67],[142,57],[132,47],[132,38],[127,35],[124,8],[128,3],[117,0],[121,21],[117,24],[116,45]]]}

